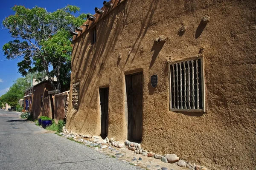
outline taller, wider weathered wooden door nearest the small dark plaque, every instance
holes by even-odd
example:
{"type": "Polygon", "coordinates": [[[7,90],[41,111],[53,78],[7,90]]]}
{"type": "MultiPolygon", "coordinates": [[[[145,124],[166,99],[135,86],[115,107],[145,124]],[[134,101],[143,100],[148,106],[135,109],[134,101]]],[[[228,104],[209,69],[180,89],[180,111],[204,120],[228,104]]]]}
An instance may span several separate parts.
{"type": "Polygon", "coordinates": [[[143,74],[125,76],[127,106],[128,106],[128,140],[142,140],[143,118],[143,74]]]}

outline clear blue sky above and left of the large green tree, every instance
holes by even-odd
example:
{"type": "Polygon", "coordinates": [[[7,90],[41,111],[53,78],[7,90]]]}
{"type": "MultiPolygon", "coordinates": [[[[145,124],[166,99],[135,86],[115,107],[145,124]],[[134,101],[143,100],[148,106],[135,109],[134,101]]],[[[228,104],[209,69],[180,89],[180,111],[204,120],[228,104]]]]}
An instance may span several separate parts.
{"type": "Polygon", "coordinates": [[[22,5],[26,8],[33,8],[34,6],[46,8],[47,11],[56,11],[64,6],[75,5],[81,8],[82,13],[94,14],[94,8],[101,8],[104,0],[11,0],[3,1],[0,5],[0,96],[6,93],[15,81],[21,75],[18,73],[17,62],[18,59],[3,61],[6,57],[3,54],[2,47],[6,42],[12,40],[8,30],[4,30],[2,27],[2,21],[5,17],[14,14],[12,7],[15,5],[22,5]]]}

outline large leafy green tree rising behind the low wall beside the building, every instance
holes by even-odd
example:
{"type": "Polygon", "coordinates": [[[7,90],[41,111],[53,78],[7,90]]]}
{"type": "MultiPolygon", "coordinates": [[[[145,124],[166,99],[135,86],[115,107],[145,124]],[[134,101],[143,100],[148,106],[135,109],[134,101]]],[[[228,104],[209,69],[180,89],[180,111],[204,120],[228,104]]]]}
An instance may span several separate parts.
{"type": "Polygon", "coordinates": [[[37,6],[14,6],[12,10],[15,14],[3,20],[4,28],[15,38],[3,45],[6,58],[21,59],[18,67],[23,76],[28,72],[45,72],[55,90],[61,91],[61,85],[69,86],[73,47],[69,32],[81,26],[87,14],[80,14],[79,7],[70,5],[54,12],[37,6]],[[54,76],[57,83],[52,81],[54,76]]]}

